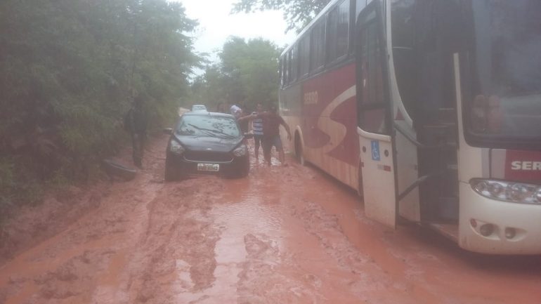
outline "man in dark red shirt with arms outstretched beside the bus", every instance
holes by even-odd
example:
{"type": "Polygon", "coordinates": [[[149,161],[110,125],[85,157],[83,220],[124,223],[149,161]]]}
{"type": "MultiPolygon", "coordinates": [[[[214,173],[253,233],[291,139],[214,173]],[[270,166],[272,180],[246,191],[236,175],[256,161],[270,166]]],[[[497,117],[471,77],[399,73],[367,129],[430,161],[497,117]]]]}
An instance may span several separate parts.
{"type": "Polygon", "coordinates": [[[255,115],[255,119],[261,118],[263,122],[263,138],[261,145],[263,146],[263,157],[269,166],[271,166],[271,150],[273,146],[278,152],[278,159],[282,166],[286,166],[284,148],[282,147],[282,140],[280,140],[280,125],[284,126],[287,131],[287,140],[291,140],[291,132],[289,126],[285,123],[284,119],[278,115],[278,111],[274,105],[271,105],[269,112],[263,112],[255,115]]]}

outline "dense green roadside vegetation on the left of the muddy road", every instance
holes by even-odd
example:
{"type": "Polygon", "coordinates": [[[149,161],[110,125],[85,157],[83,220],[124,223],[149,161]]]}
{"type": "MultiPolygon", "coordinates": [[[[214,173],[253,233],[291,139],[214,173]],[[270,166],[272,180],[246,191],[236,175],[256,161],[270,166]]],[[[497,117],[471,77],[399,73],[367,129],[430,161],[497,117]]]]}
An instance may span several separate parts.
{"type": "Polygon", "coordinates": [[[166,0],[0,1],[0,220],[95,177],[133,95],[151,126],[171,119],[200,63],[196,25],[166,0]]]}

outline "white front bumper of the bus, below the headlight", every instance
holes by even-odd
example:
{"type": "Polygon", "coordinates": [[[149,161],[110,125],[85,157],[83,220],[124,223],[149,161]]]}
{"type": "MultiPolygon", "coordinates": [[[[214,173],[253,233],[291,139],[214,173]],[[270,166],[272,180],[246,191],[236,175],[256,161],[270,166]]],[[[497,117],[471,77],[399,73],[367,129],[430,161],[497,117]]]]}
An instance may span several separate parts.
{"type": "Polygon", "coordinates": [[[541,205],[495,201],[460,183],[459,246],[478,253],[540,254],[541,205]]]}

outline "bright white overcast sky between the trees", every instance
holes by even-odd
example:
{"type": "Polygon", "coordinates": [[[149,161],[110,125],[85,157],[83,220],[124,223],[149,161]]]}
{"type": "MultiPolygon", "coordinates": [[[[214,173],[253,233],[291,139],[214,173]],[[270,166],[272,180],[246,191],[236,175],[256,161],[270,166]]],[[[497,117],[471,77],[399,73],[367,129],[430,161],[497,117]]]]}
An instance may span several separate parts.
{"type": "MultiPolygon", "coordinates": [[[[188,18],[199,21],[195,33],[195,51],[219,51],[230,36],[245,39],[263,37],[278,46],[291,43],[294,31],[285,34],[286,23],[279,11],[238,13],[230,15],[236,0],[178,0],[186,8],[188,18]]],[[[213,56],[211,59],[216,60],[213,56]]]]}

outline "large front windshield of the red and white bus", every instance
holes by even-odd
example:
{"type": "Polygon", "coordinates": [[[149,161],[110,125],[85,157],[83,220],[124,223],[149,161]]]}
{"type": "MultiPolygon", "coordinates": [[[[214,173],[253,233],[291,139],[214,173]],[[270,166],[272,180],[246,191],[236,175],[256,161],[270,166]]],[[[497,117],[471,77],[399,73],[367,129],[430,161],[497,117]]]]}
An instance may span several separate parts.
{"type": "Polygon", "coordinates": [[[474,0],[469,131],[492,140],[541,138],[541,1],[474,0]]]}

